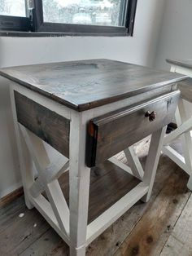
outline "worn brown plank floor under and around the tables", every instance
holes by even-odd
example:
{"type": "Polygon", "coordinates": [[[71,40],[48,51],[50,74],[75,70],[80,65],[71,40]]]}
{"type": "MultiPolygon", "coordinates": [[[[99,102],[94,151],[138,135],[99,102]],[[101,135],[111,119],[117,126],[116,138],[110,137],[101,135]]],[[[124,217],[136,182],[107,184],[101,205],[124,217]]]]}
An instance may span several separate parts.
{"type": "MultiPolygon", "coordinates": [[[[136,146],[143,164],[148,140],[145,139],[136,146]]],[[[118,158],[125,161],[123,153],[118,158]]],[[[110,180],[116,180],[116,173],[110,177],[110,180]]],[[[101,179],[101,174],[95,170],[91,181],[93,194],[101,189],[98,179],[101,179]]],[[[137,202],[89,245],[87,255],[191,256],[192,196],[186,188],[187,179],[187,174],[168,157],[161,156],[151,200],[146,204],[137,202]]],[[[106,195],[109,196],[114,187],[108,182],[105,186],[106,195]]],[[[63,186],[63,190],[65,189],[67,188],[63,186]]],[[[125,190],[122,188],[122,193],[125,190]]],[[[111,197],[116,201],[116,196],[111,197]]],[[[97,201],[92,202],[92,206],[95,204],[97,201]]],[[[100,206],[98,210],[92,206],[89,205],[89,208],[94,209],[89,219],[99,214],[100,206]]],[[[105,207],[106,205],[103,209],[105,207]]],[[[68,255],[68,245],[46,223],[41,214],[35,209],[26,209],[24,196],[0,209],[0,256],[11,255],[68,255]]]]}

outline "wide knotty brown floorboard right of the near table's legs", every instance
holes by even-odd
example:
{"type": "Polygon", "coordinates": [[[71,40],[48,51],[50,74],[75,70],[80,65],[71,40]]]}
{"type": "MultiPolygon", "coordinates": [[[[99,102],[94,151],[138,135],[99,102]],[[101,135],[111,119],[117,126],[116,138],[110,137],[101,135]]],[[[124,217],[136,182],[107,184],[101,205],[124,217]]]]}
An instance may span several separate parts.
{"type": "Polygon", "coordinates": [[[177,168],[177,171],[168,177],[153,205],[143,214],[133,232],[117,250],[116,256],[155,256],[160,254],[172,232],[172,227],[177,223],[177,219],[190,197],[190,192],[186,192],[186,182],[187,175],[181,173],[177,168]]]}

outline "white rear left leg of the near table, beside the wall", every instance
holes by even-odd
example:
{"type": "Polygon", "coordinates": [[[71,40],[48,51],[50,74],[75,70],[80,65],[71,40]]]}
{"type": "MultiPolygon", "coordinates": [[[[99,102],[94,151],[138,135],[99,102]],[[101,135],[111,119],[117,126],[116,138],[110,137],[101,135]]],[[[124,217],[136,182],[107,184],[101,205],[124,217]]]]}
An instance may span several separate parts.
{"type": "Polygon", "coordinates": [[[29,188],[32,186],[34,182],[33,164],[31,161],[31,157],[29,156],[29,153],[28,153],[28,148],[24,142],[22,135],[20,134],[20,128],[17,122],[16,109],[15,109],[14,91],[12,87],[10,87],[10,94],[11,94],[11,108],[12,108],[14,127],[15,127],[16,143],[17,143],[17,149],[18,149],[19,160],[20,160],[20,172],[21,172],[21,178],[22,178],[22,183],[24,187],[24,199],[28,209],[32,209],[33,205],[29,200],[29,188]]]}

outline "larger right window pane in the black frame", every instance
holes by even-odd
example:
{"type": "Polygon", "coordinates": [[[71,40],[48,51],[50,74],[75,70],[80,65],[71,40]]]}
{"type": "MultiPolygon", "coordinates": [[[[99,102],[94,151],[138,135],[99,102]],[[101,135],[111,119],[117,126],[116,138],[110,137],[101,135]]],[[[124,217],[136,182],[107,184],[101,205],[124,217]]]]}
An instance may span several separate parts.
{"type": "Polygon", "coordinates": [[[123,26],[125,0],[43,0],[45,22],[123,26]]]}

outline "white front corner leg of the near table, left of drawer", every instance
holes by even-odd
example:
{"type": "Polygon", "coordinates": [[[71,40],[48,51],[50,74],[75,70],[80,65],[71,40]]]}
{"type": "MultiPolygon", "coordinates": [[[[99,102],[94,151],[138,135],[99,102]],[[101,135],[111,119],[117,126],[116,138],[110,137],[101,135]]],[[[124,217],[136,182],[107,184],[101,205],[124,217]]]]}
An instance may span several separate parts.
{"type": "Polygon", "coordinates": [[[85,166],[85,133],[82,113],[73,113],[69,145],[71,256],[85,256],[90,175],[90,169],[85,166]]]}

